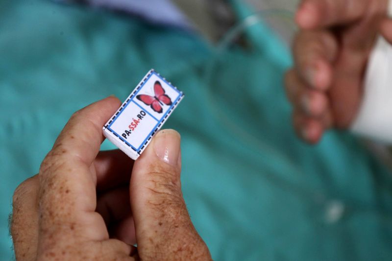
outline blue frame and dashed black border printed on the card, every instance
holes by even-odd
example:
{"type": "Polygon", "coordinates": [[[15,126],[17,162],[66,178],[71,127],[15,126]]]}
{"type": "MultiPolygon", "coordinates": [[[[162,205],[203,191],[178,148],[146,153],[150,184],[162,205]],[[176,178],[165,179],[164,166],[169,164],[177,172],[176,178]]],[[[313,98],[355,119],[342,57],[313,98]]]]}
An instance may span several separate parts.
{"type": "Polygon", "coordinates": [[[156,127],[158,127],[158,125],[160,123],[162,123],[165,120],[166,115],[168,115],[169,112],[172,111],[172,108],[174,106],[177,105],[178,101],[181,99],[181,97],[183,96],[183,93],[178,91],[177,88],[175,88],[174,86],[172,86],[172,84],[170,82],[168,82],[166,79],[164,79],[160,74],[158,74],[156,71],[151,71],[151,74],[148,75],[147,79],[144,81],[144,83],[140,86],[139,90],[132,95],[132,97],[127,101],[127,103],[125,104],[125,106],[123,106],[123,109],[117,114],[117,116],[112,120],[112,122],[107,126],[107,129],[109,131],[111,131],[114,135],[116,135],[120,140],[122,140],[123,142],[125,142],[128,146],[130,146],[132,149],[134,149],[137,153],[140,154],[140,149],[145,145],[145,143],[147,142],[148,138],[151,136],[151,134],[153,132],[155,132],[156,127]],[[167,85],[169,85],[175,92],[178,93],[177,98],[172,102],[172,105],[169,107],[169,109],[166,111],[166,113],[162,116],[161,119],[156,119],[154,116],[152,116],[145,108],[143,108],[140,104],[138,104],[136,101],[134,101],[134,98],[136,97],[136,95],[140,92],[141,89],[143,89],[143,87],[146,85],[146,83],[148,82],[148,80],[151,78],[151,76],[155,74],[159,79],[161,79],[163,82],[165,82],[167,85]],[[138,105],[140,108],[142,108],[144,111],[146,111],[146,113],[151,116],[153,119],[155,119],[157,121],[157,124],[152,128],[152,131],[147,135],[147,138],[142,142],[142,144],[139,146],[139,148],[135,148],[134,146],[132,146],[129,142],[125,141],[123,139],[122,136],[120,136],[117,132],[115,132],[112,128],[110,128],[110,126],[113,125],[113,123],[116,121],[117,118],[120,117],[120,115],[123,113],[123,111],[125,110],[125,108],[128,106],[129,103],[134,102],[136,105],[138,105]]]}

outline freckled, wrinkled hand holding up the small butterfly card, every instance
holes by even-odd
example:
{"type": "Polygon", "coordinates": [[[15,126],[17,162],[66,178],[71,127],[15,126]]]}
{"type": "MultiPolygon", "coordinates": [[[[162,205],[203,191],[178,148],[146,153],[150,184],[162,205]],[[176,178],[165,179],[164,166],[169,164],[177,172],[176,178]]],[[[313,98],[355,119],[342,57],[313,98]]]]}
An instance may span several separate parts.
{"type": "Polygon", "coordinates": [[[120,104],[108,97],[73,114],[39,174],[15,190],[17,260],[211,260],[182,197],[177,132],[159,132],[136,162],[99,152],[120,104]]]}

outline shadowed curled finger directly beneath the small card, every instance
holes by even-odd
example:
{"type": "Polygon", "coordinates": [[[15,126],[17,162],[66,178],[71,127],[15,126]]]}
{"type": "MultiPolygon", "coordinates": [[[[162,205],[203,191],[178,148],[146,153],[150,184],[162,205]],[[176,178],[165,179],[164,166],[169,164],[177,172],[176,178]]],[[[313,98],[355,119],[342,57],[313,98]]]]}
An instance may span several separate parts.
{"type": "Polygon", "coordinates": [[[94,161],[97,190],[102,192],[129,184],[133,162],[119,149],[100,151],[94,161]]]}

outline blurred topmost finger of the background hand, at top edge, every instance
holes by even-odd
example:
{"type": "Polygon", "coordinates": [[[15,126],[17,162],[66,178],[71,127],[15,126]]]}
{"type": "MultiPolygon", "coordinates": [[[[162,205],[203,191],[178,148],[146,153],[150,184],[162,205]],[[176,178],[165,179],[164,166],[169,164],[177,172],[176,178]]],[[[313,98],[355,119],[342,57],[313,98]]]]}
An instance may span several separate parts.
{"type": "Polygon", "coordinates": [[[305,29],[340,25],[360,19],[370,0],[302,0],[295,16],[305,29]]]}

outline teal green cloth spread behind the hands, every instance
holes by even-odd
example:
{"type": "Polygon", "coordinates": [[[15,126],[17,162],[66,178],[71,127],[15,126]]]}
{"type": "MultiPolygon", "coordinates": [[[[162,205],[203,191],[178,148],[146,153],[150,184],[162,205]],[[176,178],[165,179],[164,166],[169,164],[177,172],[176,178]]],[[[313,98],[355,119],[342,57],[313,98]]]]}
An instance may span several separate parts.
{"type": "Polygon", "coordinates": [[[181,133],[185,200],[215,260],[390,259],[391,172],[350,134],[298,141],[282,86],[290,55],[259,29],[257,51],[231,48],[207,80],[215,50],[196,35],[46,0],[2,1],[1,259],[12,257],[13,190],[37,173],[71,114],[124,99],[150,68],[186,95],[165,127],[181,133]]]}

